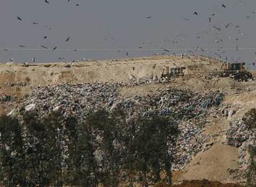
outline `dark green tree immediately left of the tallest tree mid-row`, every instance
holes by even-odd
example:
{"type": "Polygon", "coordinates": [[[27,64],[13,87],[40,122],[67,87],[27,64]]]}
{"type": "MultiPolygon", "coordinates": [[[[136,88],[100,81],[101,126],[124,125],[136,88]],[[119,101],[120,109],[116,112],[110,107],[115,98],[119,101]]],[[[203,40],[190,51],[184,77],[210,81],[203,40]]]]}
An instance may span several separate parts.
{"type": "Polygon", "coordinates": [[[95,159],[95,135],[92,128],[77,118],[66,119],[67,183],[72,186],[98,186],[98,165],[95,159]]]}

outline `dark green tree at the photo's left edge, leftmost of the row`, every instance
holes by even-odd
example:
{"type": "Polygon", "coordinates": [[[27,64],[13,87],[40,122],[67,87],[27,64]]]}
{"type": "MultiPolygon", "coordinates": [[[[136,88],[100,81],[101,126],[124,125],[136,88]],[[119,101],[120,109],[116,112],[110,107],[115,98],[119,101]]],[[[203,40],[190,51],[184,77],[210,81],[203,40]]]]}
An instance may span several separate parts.
{"type": "Polygon", "coordinates": [[[22,128],[17,119],[0,117],[0,179],[5,186],[26,186],[22,128]]]}

